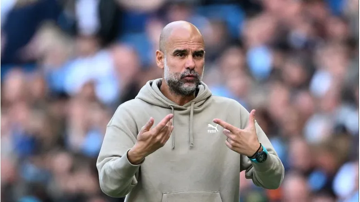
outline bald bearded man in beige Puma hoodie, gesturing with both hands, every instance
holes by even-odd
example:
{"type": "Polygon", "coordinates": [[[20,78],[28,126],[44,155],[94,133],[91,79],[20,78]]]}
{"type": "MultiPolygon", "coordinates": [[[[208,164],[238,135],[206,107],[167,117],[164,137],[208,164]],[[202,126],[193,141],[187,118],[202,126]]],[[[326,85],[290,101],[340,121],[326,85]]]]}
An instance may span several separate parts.
{"type": "Polygon", "coordinates": [[[243,170],[257,186],[279,187],[284,167],[255,111],[211,95],[201,82],[204,55],[194,25],[164,27],[156,51],[162,79],[147,82],[108,123],[97,161],[107,195],[126,202],[238,202],[243,170]]]}

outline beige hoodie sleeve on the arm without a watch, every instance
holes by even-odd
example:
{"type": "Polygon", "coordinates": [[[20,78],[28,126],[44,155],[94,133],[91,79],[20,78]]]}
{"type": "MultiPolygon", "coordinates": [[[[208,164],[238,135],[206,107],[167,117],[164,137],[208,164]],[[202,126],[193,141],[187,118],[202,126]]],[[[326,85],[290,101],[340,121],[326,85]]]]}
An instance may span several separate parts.
{"type": "Polygon", "coordinates": [[[132,165],[127,152],[136,142],[137,127],[126,108],[119,106],[108,123],[97,159],[101,190],[111,197],[125,197],[137,185],[140,165],[132,165]]]}

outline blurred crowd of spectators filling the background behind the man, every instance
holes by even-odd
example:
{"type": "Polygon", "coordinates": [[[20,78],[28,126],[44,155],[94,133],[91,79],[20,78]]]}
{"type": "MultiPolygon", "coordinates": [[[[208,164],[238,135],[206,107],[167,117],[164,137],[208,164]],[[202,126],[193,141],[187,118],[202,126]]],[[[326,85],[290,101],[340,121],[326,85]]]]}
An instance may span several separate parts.
{"type": "Polygon", "coordinates": [[[1,201],[121,202],[95,167],[117,106],[162,77],[164,25],[206,43],[214,95],[239,101],[286,168],[241,173],[240,202],[359,201],[359,0],[1,0],[1,201]]]}

